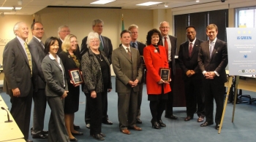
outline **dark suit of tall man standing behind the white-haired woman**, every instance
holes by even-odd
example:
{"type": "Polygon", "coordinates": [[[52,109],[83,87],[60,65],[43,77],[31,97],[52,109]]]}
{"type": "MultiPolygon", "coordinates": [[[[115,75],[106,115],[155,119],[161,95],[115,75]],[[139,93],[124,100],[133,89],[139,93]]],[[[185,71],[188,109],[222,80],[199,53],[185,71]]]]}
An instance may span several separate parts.
{"type": "MultiPolygon", "coordinates": [[[[109,63],[111,64],[111,56],[112,56],[112,51],[113,51],[113,46],[111,43],[111,40],[108,39],[108,37],[106,36],[102,36],[102,40],[103,40],[103,52],[105,52],[105,56],[108,58],[109,63]]],[[[80,56],[82,57],[87,51],[88,51],[88,47],[87,47],[87,36],[85,38],[83,38],[82,40],[82,44],[81,44],[81,50],[80,50],[80,56]]],[[[83,88],[83,85],[82,85],[83,88]]],[[[102,109],[102,118],[103,119],[108,119],[108,94],[106,95],[102,95],[102,100],[105,100],[105,106],[103,106],[102,109]]],[[[85,112],[85,122],[86,124],[90,123],[90,112],[89,112],[89,106],[86,100],[86,112],[85,112]]]]}

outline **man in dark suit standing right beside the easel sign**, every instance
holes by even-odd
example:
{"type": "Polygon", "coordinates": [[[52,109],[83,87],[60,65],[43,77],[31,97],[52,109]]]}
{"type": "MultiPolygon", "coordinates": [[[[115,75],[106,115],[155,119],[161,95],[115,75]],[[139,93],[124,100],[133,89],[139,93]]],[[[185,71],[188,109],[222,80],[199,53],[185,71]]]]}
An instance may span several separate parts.
{"type": "Polygon", "coordinates": [[[215,129],[219,129],[224,105],[224,84],[227,82],[227,43],[217,39],[218,27],[210,24],[206,27],[208,41],[200,44],[198,66],[203,73],[205,93],[206,122],[201,127],[214,124],[214,100],[216,102],[215,129]]]}

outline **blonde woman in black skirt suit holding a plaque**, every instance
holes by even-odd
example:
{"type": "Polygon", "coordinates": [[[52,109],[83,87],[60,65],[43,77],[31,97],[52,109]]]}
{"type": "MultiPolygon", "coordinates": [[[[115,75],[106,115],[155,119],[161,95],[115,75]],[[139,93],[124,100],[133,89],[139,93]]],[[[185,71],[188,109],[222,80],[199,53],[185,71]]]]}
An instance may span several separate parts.
{"type": "Polygon", "coordinates": [[[69,76],[69,71],[80,69],[80,59],[78,55],[75,55],[75,50],[78,49],[78,41],[75,35],[69,34],[65,37],[62,43],[62,51],[59,53],[59,58],[61,58],[62,63],[65,68],[66,78],[67,78],[67,85],[69,87],[69,93],[67,98],[65,98],[64,103],[64,114],[65,114],[65,124],[67,127],[67,133],[69,134],[70,141],[78,141],[74,135],[83,135],[74,129],[74,117],[75,112],[78,111],[79,107],[79,94],[80,94],[80,87],[79,83],[79,72],[72,72],[72,78],[69,76]],[[74,74],[77,74],[75,76],[74,74]]]}

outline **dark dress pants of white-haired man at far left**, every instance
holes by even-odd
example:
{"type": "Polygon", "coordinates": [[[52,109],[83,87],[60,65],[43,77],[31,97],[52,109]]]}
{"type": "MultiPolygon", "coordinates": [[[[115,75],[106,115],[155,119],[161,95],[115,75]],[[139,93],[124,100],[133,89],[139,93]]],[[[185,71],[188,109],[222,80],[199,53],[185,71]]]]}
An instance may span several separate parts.
{"type": "MultiPolygon", "coordinates": [[[[10,113],[17,123],[20,131],[23,133],[25,140],[29,138],[29,124],[32,105],[32,89],[26,97],[11,96],[12,108],[10,113]]],[[[15,134],[14,134],[15,135],[15,134]]]]}

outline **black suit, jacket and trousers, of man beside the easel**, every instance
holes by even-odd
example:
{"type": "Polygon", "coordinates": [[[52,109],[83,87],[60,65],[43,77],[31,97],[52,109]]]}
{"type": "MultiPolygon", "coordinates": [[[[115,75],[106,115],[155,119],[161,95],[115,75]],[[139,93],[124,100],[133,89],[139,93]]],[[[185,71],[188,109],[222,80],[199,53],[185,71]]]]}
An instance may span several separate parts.
{"type": "Polygon", "coordinates": [[[203,71],[216,71],[219,76],[214,79],[203,79],[203,89],[205,93],[206,122],[213,122],[214,99],[216,102],[215,122],[220,123],[224,105],[224,84],[227,82],[225,68],[227,66],[227,43],[217,39],[214,50],[210,58],[209,41],[200,44],[198,54],[198,65],[203,71]]]}

